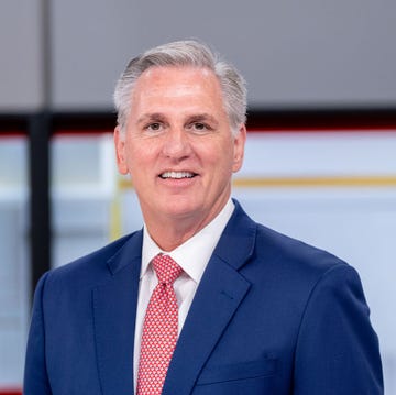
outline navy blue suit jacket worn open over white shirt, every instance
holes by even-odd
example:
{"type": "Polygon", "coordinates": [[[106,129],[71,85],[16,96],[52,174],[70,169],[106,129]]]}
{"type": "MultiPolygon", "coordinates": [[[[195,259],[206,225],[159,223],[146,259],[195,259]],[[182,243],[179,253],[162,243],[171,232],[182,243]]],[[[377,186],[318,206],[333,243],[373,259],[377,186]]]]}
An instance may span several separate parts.
{"type": "MultiPolygon", "coordinates": [[[[133,394],[142,231],[44,275],[25,395],[133,394]]],[[[356,272],[237,204],[178,339],[166,395],[383,394],[356,272]]]]}

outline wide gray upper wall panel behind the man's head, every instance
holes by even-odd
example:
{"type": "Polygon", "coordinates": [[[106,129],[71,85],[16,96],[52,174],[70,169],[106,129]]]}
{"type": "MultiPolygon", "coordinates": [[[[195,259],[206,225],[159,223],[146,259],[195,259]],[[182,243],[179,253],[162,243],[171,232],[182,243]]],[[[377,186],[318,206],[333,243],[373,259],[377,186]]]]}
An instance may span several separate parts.
{"type": "Polygon", "coordinates": [[[396,2],[55,0],[54,103],[111,106],[127,59],[200,37],[245,75],[252,105],[396,103],[396,2]]]}

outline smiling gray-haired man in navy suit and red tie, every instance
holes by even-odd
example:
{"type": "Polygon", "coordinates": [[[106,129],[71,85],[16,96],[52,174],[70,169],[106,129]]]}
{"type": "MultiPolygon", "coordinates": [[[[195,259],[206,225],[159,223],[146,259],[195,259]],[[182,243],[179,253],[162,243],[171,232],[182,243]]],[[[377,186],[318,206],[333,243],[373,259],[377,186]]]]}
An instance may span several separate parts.
{"type": "Polygon", "coordinates": [[[114,97],[144,229],[41,279],[24,393],[383,394],[356,272],[230,199],[246,138],[238,72],[170,43],[131,61],[114,97]]]}

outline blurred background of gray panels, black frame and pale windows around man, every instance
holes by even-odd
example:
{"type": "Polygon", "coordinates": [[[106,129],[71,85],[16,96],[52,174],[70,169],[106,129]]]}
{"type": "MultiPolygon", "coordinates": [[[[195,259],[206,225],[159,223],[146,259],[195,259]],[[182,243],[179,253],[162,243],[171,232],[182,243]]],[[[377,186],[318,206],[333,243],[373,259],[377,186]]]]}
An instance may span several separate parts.
{"type": "Polygon", "coordinates": [[[130,57],[197,37],[249,84],[233,195],[361,274],[396,395],[394,0],[1,0],[0,394],[20,394],[32,293],[142,224],[112,146],[130,57]]]}

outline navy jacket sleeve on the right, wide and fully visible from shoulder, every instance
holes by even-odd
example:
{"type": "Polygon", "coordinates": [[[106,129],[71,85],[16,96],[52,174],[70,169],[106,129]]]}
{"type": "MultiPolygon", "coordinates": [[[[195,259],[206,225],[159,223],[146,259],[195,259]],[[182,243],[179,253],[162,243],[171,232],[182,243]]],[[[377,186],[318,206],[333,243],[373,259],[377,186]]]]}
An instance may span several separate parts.
{"type": "Polygon", "coordinates": [[[378,339],[358,273],[341,264],[311,292],[295,355],[295,395],[384,393],[378,339]]]}

